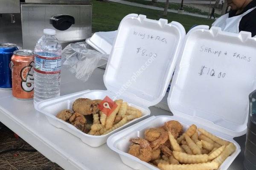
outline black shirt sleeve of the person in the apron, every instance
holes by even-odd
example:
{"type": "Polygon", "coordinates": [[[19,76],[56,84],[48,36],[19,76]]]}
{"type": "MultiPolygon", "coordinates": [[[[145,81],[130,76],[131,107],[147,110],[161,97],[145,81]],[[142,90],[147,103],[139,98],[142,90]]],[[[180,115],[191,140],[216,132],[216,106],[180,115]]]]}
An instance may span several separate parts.
{"type": "Polygon", "coordinates": [[[256,35],[256,9],[242,17],[239,23],[239,31],[248,31],[252,37],[256,35]]]}

